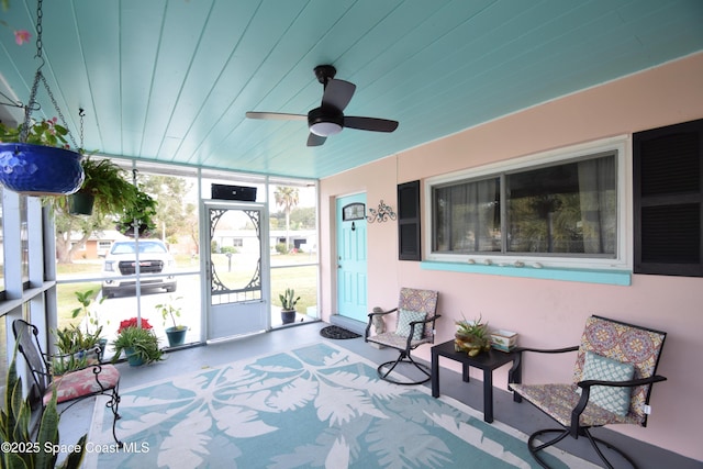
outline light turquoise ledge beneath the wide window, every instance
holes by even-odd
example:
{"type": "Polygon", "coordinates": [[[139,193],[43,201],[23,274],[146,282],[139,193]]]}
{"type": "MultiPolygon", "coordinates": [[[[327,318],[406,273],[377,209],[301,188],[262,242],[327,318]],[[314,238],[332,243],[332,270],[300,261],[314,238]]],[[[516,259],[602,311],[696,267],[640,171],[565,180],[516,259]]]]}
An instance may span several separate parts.
{"type": "Polygon", "coordinates": [[[424,260],[420,263],[423,270],[444,270],[450,272],[484,273],[503,277],[522,277],[546,280],[565,280],[584,283],[603,283],[629,287],[632,272],[629,270],[599,270],[599,269],[567,269],[556,267],[515,267],[498,265],[478,265],[462,263],[442,263],[424,260]]]}

